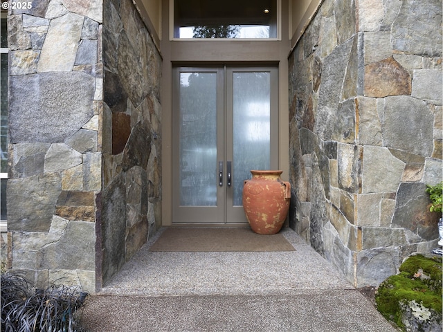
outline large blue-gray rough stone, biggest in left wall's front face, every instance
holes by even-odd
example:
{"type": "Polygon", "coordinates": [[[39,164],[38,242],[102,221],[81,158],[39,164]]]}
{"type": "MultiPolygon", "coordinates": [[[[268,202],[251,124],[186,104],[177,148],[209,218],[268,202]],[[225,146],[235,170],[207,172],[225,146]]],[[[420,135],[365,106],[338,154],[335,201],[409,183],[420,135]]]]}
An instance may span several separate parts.
{"type": "Polygon", "coordinates": [[[63,142],[93,116],[95,78],[81,72],[10,77],[10,142],[63,142]]]}

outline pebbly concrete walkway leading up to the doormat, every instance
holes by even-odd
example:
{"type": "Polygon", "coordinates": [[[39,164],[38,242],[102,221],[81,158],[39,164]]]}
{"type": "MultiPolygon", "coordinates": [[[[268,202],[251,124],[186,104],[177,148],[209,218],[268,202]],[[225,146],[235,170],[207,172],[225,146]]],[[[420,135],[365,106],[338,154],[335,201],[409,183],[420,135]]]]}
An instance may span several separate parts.
{"type": "Polygon", "coordinates": [[[150,252],[100,295],[88,331],[397,331],[296,232],[293,252],[150,252]]]}

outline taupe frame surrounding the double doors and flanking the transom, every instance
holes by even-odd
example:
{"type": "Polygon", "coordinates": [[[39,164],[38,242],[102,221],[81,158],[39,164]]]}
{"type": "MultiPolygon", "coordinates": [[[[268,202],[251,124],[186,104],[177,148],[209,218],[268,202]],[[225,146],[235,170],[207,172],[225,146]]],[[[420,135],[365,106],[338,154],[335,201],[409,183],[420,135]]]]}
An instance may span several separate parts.
{"type": "MultiPolygon", "coordinates": [[[[289,2],[281,1],[281,12],[289,12],[289,2]]],[[[289,15],[281,16],[281,38],[278,40],[170,40],[170,1],[162,1],[160,49],[161,66],[161,219],[156,227],[172,225],[172,68],[203,64],[270,64],[278,66],[278,169],[282,180],[289,181],[289,77],[288,56],[291,53],[289,15]]],[[[159,151],[157,151],[159,154],[159,151]]],[[[211,226],[211,225],[208,225],[211,226]]],[[[233,224],[228,224],[233,227],[233,224]]],[[[240,225],[244,227],[244,224],[240,225]]],[[[218,226],[217,226],[218,227],[218,226]]]]}

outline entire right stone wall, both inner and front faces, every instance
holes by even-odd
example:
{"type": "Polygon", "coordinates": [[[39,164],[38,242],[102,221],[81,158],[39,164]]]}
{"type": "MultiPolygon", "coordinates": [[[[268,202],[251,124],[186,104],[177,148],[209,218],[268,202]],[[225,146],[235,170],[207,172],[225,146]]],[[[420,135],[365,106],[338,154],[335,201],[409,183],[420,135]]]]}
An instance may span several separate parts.
{"type": "Polygon", "coordinates": [[[440,0],[326,0],[289,56],[291,228],[354,286],[437,246],[440,0]]]}

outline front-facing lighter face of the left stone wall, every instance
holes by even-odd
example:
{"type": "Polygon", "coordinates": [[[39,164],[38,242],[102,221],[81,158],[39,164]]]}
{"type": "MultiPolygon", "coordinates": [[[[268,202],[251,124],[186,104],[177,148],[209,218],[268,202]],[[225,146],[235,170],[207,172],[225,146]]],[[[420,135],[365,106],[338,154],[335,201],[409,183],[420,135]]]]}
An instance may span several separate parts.
{"type": "Polygon", "coordinates": [[[102,2],[35,0],[8,13],[8,267],[96,288],[102,2]]]}

